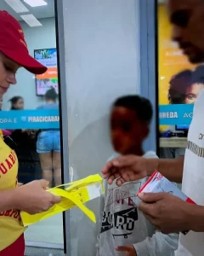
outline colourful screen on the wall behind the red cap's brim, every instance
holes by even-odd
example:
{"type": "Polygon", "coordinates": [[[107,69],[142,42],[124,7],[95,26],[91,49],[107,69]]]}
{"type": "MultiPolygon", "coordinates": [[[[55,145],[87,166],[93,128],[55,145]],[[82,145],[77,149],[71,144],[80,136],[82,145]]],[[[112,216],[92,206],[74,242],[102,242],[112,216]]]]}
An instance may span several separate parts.
{"type": "Polygon", "coordinates": [[[44,96],[46,91],[52,87],[59,93],[57,49],[35,49],[34,57],[42,65],[48,67],[46,73],[36,75],[37,96],[44,96]]]}

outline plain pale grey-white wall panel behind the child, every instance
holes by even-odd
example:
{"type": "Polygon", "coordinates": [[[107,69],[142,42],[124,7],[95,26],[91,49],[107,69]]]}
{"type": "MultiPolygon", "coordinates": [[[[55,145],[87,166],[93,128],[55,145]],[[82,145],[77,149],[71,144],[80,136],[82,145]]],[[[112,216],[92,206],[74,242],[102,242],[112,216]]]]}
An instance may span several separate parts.
{"type": "MultiPolygon", "coordinates": [[[[63,1],[69,160],[74,179],[100,173],[113,154],[111,103],[118,96],[139,92],[137,2],[63,1]]],[[[99,214],[99,200],[88,207],[99,214]]],[[[96,227],[77,208],[71,210],[71,255],[96,255],[96,227]]]]}

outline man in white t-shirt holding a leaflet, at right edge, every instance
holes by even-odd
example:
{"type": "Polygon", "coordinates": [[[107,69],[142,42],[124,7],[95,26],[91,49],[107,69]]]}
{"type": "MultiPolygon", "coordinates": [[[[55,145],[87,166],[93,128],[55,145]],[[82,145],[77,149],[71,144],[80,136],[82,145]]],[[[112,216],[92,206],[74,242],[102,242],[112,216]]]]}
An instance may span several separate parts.
{"type": "MultiPolygon", "coordinates": [[[[204,61],[204,1],[167,0],[173,40],[178,42],[191,63],[204,61]]],[[[203,73],[204,78],[204,73],[203,73]]],[[[139,210],[163,233],[190,230],[180,234],[178,256],[204,255],[204,90],[198,96],[184,157],[175,160],[121,156],[108,162],[103,177],[117,185],[150,175],[155,170],[169,180],[181,183],[182,190],[197,205],[167,194],[140,194],[139,210]]]]}

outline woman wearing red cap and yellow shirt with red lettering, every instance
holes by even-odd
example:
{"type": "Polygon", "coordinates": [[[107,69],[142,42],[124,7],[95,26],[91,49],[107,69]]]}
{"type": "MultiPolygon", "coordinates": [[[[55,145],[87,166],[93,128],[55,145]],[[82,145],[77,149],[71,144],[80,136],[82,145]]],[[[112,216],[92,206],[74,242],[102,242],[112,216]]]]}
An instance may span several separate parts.
{"type": "MultiPolygon", "coordinates": [[[[35,74],[47,68],[29,55],[24,33],[17,20],[6,11],[0,11],[0,98],[10,84],[16,84],[15,74],[25,67],[35,74]]],[[[25,228],[20,211],[35,214],[47,211],[60,201],[58,196],[46,192],[48,182],[34,181],[18,187],[18,159],[3,142],[0,132],[0,256],[23,256],[25,228]]]]}

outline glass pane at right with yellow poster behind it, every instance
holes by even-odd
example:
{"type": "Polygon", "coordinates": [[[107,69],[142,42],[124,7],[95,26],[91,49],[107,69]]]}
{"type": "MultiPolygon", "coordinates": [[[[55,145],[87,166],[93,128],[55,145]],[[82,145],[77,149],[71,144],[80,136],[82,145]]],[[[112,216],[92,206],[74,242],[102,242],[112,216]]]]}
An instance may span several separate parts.
{"type": "Polygon", "coordinates": [[[184,155],[188,128],[192,119],[193,97],[188,88],[195,66],[183,55],[172,40],[172,29],[164,1],[158,9],[159,104],[160,104],[160,156],[176,158],[184,155]],[[189,98],[189,99],[188,99],[189,98]]]}

